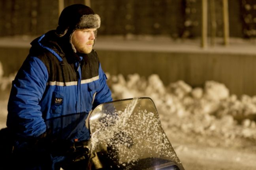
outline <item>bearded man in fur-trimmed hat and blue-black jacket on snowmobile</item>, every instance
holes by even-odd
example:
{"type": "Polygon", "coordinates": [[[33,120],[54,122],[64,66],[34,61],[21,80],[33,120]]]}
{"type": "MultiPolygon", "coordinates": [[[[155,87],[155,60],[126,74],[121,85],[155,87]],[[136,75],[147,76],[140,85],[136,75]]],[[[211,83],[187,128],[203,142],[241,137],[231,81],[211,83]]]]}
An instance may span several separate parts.
{"type": "Polygon", "coordinates": [[[112,100],[92,49],[99,27],[99,15],[88,6],[74,4],[62,11],[56,30],[32,41],[8,103],[15,167],[86,168],[70,165],[73,158],[67,156],[67,148],[90,138],[85,126],[88,112],[112,100]]]}

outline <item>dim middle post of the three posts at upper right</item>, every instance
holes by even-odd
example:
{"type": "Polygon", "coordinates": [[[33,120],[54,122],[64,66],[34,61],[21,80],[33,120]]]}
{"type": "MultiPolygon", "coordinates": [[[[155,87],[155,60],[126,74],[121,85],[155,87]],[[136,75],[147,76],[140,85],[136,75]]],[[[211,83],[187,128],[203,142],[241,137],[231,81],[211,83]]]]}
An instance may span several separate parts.
{"type": "Polygon", "coordinates": [[[217,27],[215,0],[210,0],[210,15],[211,15],[211,46],[215,46],[216,27],[217,27]]]}

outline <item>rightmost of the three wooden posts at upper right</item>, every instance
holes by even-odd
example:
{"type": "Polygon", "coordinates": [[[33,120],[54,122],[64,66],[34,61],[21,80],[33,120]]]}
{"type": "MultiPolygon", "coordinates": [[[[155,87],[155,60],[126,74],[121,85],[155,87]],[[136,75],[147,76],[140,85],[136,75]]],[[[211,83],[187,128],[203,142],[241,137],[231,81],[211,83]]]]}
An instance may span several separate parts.
{"type": "Polygon", "coordinates": [[[229,18],[228,18],[228,0],[223,0],[223,33],[224,45],[229,45],[229,18]]]}

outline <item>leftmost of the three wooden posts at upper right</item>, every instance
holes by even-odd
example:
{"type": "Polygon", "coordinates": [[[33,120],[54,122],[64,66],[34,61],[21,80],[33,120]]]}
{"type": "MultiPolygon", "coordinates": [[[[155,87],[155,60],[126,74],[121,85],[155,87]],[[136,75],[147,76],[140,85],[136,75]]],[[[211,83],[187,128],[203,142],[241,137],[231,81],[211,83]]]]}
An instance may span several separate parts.
{"type": "Polygon", "coordinates": [[[202,0],[202,37],[201,47],[207,47],[207,0],[202,0]]]}

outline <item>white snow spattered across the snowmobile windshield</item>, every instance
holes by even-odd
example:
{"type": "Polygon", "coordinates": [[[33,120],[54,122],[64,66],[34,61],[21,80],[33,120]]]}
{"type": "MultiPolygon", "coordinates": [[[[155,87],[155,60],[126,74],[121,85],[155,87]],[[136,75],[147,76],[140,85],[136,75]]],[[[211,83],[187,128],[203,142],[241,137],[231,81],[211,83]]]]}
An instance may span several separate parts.
{"type": "Polygon", "coordinates": [[[136,161],[149,157],[180,163],[162,130],[157,112],[141,107],[138,100],[134,98],[124,110],[112,114],[102,110],[98,122],[90,124],[94,129],[91,153],[108,150],[109,159],[122,169],[132,169],[136,161]]]}

